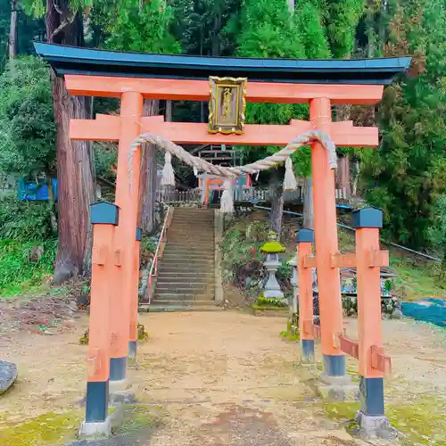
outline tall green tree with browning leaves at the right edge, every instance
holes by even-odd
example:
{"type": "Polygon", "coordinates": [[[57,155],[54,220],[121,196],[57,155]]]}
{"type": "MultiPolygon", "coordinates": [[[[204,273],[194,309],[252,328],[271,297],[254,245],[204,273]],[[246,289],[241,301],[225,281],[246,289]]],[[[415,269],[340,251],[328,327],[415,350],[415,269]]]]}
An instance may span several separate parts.
{"type": "Polygon", "coordinates": [[[436,203],[445,193],[445,35],[441,0],[411,0],[396,10],[389,47],[416,54],[418,75],[385,90],[378,116],[382,142],[363,160],[366,198],[384,210],[387,235],[414,247],[432,242],[436,203]]]}

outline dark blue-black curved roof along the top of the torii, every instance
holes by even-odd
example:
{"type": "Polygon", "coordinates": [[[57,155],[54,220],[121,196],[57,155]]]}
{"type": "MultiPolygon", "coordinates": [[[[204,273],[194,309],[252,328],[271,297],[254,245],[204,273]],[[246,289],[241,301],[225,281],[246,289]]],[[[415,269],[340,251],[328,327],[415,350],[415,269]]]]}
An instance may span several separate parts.
{"type": "Polygon", "coordinates": [[[57,75],[207,79],[210,76],[297,84],[387,85],[407,70],[410,57],[382,59],[251,59],[183,54],[140,54],[35,42],[57,75]]]}

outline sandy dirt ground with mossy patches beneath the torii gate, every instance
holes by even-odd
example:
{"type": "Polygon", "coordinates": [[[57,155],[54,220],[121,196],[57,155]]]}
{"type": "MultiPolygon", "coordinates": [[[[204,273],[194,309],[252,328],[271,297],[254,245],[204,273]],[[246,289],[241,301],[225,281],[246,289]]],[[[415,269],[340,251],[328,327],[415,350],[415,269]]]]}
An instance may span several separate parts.
{"type": "MultiPolygon", "coordinates": [[[[150,339],[129,376],[138,403],[103,442],[75,442],[83,415],[87,318],[62,333],[0,334],[1,359],[20,377],[0,397],[2,446],[335,446],[381,444],[354,438],[358,403],[326,403],[314,373],[298,365],[299,344],[280,337],[285,318],[239,311],[145,314],[150,339]]],[[[392,376],[386,411],[401,434],[394,444],[446,445],[446,331],[409,320],[384,320],[392,376]]],[[[345,324],[353,337],[356,320],[345,324]]],[[[318,350],[318,348],[317,348],[318,350]]],[[[353,382],[355,361],[349,360],[353,382]]]]}

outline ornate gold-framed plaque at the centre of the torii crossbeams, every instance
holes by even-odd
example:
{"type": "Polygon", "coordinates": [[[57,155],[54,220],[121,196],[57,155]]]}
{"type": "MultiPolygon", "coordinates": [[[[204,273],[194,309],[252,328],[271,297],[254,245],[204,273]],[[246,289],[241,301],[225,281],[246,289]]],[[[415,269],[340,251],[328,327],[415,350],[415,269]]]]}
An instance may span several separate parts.
{"type": "Polygon", "coordinates": [[[246,78],[209,78],[209,133],[244,133],[246,78]]]}

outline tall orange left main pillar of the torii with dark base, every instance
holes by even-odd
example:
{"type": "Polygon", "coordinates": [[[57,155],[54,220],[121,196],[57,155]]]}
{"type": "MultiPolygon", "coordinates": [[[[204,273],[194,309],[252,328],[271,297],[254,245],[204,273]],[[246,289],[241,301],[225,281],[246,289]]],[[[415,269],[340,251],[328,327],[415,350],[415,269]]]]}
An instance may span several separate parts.
{"type": "MultiPolygon", "coordinates": [[[[136,222],[139,194],[139,164],[141,150],[132,159],[132,184],[128,175],[128,148],[141,133],[143,95],[125,91],[120,101],[120,143],[116,178],[116,204],[120,207],[113,250],[115,252],[115,284],[111,289],[111,389],[126,383],[128,351],[136,353],[138,270],[134,259],[137,248],[136,222]],[[131,192],[130,192],[131,191],[131,192]]],[[[118,123],[118,121],[117,121],[118,123]]]]}

